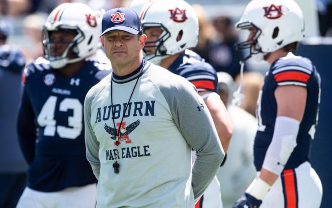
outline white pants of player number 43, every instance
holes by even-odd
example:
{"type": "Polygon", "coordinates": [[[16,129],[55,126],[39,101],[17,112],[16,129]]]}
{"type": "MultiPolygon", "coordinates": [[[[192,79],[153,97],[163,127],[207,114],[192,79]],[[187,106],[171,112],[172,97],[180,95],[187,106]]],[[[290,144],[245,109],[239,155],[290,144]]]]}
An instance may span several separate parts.
{"type": "Polygon", "coordinates": [[[26,187],[16,208],[93,208],[96,207],[96,188],[96,183],[56,192],[26,187]]]}

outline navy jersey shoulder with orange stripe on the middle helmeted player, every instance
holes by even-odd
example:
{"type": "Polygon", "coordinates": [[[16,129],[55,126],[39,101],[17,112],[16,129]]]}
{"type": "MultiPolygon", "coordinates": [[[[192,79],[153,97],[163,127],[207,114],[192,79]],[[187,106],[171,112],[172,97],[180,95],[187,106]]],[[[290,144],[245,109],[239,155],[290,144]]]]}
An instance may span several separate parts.
{"type": "Polygon", "coordinates": [[[194,51],[186,50],[168,70],[186,78],[195,85],[198,92],[217,92],[218,77],[215,69],[194,51]]]}

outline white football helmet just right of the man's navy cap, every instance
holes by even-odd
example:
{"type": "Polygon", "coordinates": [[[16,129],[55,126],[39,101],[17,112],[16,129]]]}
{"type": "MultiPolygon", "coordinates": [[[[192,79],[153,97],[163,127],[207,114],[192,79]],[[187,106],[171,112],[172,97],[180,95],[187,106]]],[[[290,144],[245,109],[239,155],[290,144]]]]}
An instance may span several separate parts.
{"type": "MultiPolygon", "coordinates": [[[[155,41],[156,51],[144,58],[155,64],[161,59],[197,45],[198,18],[194,9],[183,0],[154,0],[143,8],[140,18],[145,28],[160,27],[163,32],[155,41]],[[182,38],[178,40],[178,35],[182,38]]],[[[147,42],[149,43],[149,42],[147,42]]],[[[145,46],[148,47],[148,46],[145,46]]]]}

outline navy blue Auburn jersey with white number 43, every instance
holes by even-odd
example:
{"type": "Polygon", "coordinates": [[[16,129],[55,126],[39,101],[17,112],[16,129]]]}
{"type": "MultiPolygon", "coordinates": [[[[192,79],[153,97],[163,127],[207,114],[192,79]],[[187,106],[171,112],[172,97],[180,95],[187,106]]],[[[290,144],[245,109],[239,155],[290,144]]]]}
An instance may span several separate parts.
{"type": "Polygon", "coordinates": [[[70,78],[42,58],[26,66],[18,131],[30,188],[50,192],[96,182],[86,159],[82,110],[88,90],[110,72],[95,61],[70,78]]]}

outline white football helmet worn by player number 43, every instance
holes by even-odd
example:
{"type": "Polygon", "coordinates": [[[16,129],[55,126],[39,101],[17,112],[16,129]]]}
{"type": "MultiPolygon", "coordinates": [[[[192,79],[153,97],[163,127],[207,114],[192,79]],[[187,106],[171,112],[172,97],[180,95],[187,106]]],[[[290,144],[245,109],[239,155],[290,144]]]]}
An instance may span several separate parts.
{"type": "Polygon", "coordinates": [[[99,35],[102,31],[102,15],[101,11],[95,11],[82,3],[63,3],[50,13],[43,27],[43,46],[45,58],[50,61],[51,67],[61,68],[68,63],[77,62],[101,47],[99,35]],[[50,35],[57,30],[74,31],[77,35],[61,56],[52,56],[50,35]]]}

